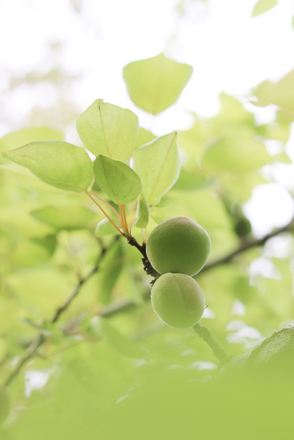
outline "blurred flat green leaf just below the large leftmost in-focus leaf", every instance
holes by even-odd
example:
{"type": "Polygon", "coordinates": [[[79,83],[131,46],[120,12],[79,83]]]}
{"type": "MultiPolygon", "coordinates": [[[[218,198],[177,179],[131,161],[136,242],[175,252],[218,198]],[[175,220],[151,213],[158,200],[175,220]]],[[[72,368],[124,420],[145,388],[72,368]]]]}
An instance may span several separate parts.
{"type": "Polygon", "coordinates": [[[31,212],[32,217],[57,230],[89,228],[96,214],[84,206],[45,206],[31,212]]]}

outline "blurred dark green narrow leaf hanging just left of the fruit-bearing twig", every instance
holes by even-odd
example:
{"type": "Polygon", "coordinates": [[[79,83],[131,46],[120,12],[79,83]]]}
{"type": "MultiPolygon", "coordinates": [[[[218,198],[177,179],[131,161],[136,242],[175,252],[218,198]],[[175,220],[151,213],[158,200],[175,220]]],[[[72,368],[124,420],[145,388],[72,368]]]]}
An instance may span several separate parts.
{"type": "Polygon", "coordinates": [[[123,245],[118,241],[105,255],[100,267],[100,296],[103,304],[109,304],[112,300],[112,292],[125,264],[123,245]]]}

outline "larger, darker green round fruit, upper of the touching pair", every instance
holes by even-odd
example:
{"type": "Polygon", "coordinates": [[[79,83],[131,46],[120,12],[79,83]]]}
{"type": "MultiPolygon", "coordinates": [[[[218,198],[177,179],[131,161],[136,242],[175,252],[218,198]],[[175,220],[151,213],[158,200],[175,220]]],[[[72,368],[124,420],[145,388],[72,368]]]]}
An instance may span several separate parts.
{"type": "Polygon", "coordinates": [[[211,248],[209,234],[188,217],[171,217],[149,234],[146,254],[159,274],[178,272],[193,276],[207,262],[211,248]]]}

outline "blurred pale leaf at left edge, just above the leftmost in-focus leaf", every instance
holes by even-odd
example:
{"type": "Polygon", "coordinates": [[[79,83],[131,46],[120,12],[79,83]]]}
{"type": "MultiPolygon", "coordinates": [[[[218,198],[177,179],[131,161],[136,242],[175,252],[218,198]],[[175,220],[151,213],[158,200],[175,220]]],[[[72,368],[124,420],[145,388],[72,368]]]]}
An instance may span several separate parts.
{"type": "Polygon", "coordinates": [[[63,140],[62,131],[50,129],[47,126],[31,127],[13,131],[0,139],[0,151],[14,150],[38,140],[63,140]]]}

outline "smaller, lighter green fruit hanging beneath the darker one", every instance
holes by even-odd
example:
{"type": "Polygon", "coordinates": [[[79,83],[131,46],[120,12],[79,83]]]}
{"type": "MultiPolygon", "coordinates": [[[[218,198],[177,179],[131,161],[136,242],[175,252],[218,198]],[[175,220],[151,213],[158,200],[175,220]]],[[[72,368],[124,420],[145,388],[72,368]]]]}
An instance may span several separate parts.
{"type": "Polygon", "coordinates": [[[202,289],[185,274],[163,274],[151,289],[151,305],[165,324],[176,329],[196,325],[205,309],[202,289]]]}

